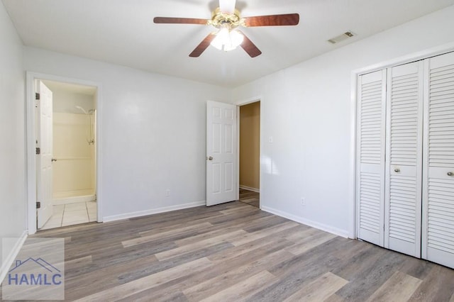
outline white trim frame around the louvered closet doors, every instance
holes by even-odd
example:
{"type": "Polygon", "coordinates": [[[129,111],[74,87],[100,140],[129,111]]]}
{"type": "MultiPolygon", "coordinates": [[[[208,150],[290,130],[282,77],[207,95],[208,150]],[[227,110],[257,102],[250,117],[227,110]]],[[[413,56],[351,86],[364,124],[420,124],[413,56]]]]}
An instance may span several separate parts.
{"type": "Polygon", "coordinates": [[[358,76],[361,74],[367,74],[370,72],[375,72],[380,69],[385,69],[397,65],[403,65],[406,63],[423,60],[428,57],[433,57],[436,55],[443,55],[445,52],[453,52],[454,43],[447,43],[437,47],[431,47],[426,50],[421,50],[419,52],[414,52],[403,57],[397,57],[396,59],[387,60],[384,62],[379,62],[375,65],[368,67],[363,67],[360,69],[355,69],[351,72],[350,77],[350,181],[349,181],[349,200],[348,203],[348,237],[351,239],[357,239],[358,235],[358,211],[356,210],[358,206],[358,201],[356,200],[356,167],[358,161],[358,155],[356,154],[356,125],[358,123],[357,118],[357,105],[358,105],[358,76]]]}

